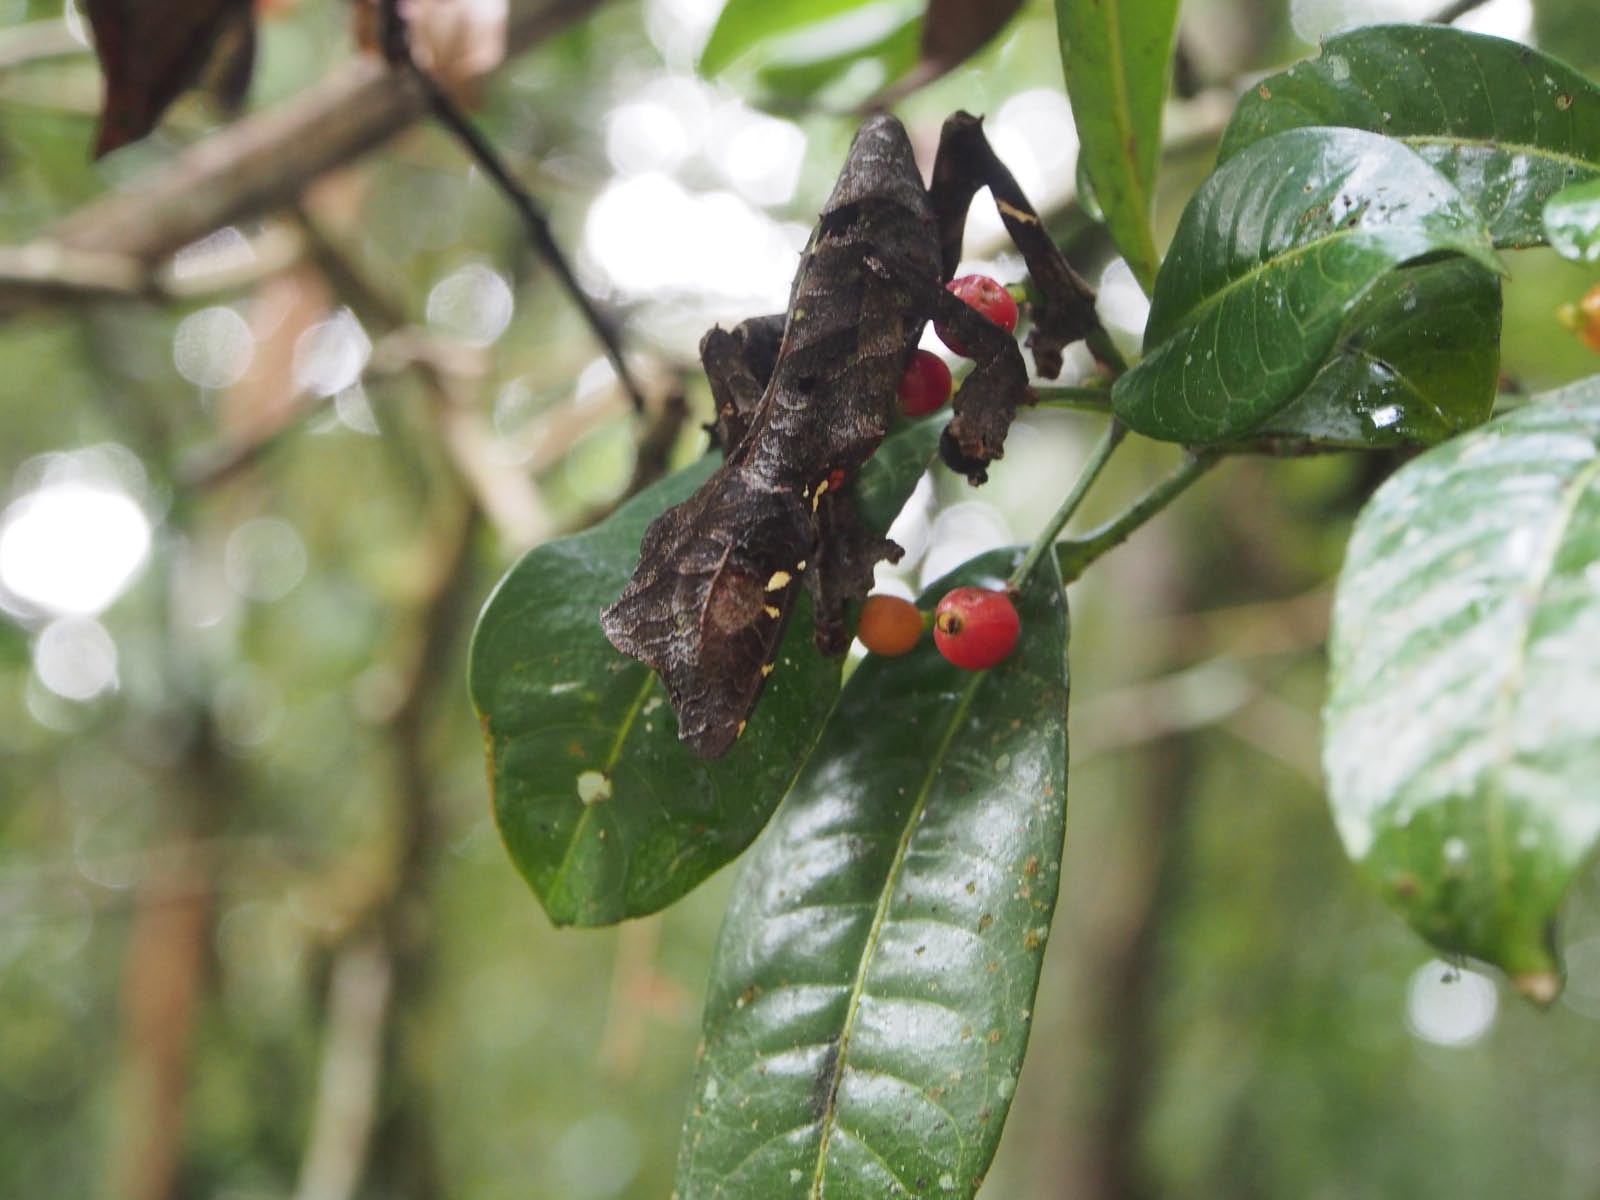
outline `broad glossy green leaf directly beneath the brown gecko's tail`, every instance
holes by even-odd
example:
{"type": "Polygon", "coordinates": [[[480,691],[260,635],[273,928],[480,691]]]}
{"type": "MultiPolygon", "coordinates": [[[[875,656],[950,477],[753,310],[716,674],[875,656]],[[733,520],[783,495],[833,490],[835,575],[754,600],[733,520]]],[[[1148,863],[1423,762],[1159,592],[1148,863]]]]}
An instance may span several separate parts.
{"type": "MultiPolygon", "coordinates": [[[[888,526],[917,485],[928,437],[909,427],[862,470],[858,488],[875,528],[888,526]]],[[[594,530],[530,550],[478,618],[470,688],[494,816],[517,869],[560,925],[654,912],[738,856],[789,790],[834,706],[840,662],[811,646],[808,597],[749,728],[717,762],[685,749],[661,682],[600,630],[600,610],[632,574],[645,526],[714,467],[706,459],[594,530]]]]}

